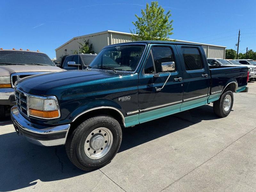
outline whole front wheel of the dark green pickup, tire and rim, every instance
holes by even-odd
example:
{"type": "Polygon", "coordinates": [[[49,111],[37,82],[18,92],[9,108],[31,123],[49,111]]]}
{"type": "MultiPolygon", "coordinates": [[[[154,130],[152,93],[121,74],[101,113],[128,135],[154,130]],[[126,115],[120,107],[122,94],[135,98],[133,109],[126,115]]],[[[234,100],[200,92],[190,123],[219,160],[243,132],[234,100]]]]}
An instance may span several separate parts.
{"type": "Polygon", "coordinates": [[[91,171],[108,164],[122,140],[121,126],[111,116],[95,116],[81,123],[69,136],[66,152],[79,169],[91,171]]]}

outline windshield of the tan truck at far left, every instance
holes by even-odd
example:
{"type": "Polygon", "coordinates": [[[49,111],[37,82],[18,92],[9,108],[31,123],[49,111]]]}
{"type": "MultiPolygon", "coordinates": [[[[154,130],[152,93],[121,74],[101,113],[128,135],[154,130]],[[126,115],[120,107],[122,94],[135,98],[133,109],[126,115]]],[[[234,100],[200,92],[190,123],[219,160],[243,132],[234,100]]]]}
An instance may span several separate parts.
{"type": "Polygon", "coordinates": [[[52,60],[44,53],[28,51],[0,51],[0,65],[49,65],[55,66],[52,60]]]}

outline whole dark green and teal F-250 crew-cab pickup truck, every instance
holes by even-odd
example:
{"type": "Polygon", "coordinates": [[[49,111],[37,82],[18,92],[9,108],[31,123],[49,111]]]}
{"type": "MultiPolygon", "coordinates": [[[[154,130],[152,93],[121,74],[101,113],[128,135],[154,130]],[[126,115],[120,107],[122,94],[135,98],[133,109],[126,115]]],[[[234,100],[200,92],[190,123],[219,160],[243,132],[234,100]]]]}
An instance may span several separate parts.
{"type": "Polygon", "coordinates": [[[90,171],[114,158],[121,127],[211,102],[217,116],[228,116],[233,93],[248,90],[248,75],[243,66],[208,66],[199,44],[115,44],[104,47],[84,70],[17,81],[11,117],[27,140],[66,145],[71,162],[90,171]]]}

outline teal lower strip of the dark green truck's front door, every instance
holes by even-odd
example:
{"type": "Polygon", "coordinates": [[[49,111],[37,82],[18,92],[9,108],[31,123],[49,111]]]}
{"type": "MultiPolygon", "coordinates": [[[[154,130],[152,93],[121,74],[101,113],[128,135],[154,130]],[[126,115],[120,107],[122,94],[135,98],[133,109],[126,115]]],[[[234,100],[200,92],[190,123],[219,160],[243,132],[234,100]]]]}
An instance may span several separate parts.
{"type": "Polygon", "coordinates": [[[181,104],[176,104],[176,105],[140,113],[139,121],[140,121],[140,123],[144,123],[144,122],[154,120],[154,119],[157,119],[160,117],[178,113],[178,112],[180,112],[180,106],[181,106],[181,104]]]}

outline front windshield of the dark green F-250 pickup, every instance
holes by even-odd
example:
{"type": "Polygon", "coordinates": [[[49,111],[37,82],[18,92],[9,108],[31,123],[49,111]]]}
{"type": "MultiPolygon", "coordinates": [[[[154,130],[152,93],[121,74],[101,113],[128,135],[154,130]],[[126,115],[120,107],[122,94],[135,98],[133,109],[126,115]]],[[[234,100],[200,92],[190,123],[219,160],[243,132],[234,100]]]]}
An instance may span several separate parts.
{"type": "Polygon", "coordinates": [[[135,71],[145,45],[116,45],[102,49],[89,65],[93,69],[135,71]]]}

